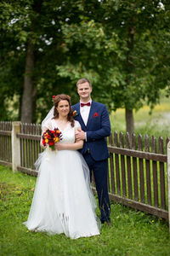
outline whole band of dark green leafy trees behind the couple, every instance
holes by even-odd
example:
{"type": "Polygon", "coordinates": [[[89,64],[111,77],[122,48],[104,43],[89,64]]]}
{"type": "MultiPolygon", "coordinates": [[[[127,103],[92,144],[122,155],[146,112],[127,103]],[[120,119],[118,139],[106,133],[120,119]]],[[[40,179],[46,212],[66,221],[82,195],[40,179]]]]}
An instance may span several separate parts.
{"type": "Polygon", "coordinates": [[[169,24],[168,0],[1,1],[0,120],[40,122],[86,77],[133,131],[133,109],[170,95],[169,24]]]}

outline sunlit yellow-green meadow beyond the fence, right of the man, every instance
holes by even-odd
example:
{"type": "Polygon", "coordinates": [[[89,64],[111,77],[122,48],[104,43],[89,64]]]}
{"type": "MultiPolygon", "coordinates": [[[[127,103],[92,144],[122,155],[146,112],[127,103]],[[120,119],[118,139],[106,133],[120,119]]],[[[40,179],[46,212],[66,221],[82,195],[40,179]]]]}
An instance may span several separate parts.
{"type": "MultiPolygon", "coordinates": [[[[137,135],[170,137],[170,104],[167,98],[162,97],[161,103],[156,105],[151,114],[147,106],[140,108],[138,112],[133,111],[133,118],[134,132],[137,135]]],[[[125,109],[118,108],[111,113],[111,130],[126,132],[125,109]]]]}

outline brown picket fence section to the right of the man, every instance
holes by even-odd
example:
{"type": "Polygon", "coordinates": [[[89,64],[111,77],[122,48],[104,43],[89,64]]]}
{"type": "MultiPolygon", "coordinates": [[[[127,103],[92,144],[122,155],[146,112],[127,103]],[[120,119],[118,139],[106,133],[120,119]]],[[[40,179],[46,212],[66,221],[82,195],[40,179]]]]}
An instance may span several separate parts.
{"type": "Polygon", "coordinates": [[[163,138],[128,133],[119,137],[115,131],[109,140],[110,172],[109,191],[114,201],[168,218],[167,154],[163,138]],[[144,142],[143,142],[144,141],[144,142]],[[137,143],[138,142],[138,143],[137,143]],[[158,142],[158,148],[157,146],[158,142]]]}

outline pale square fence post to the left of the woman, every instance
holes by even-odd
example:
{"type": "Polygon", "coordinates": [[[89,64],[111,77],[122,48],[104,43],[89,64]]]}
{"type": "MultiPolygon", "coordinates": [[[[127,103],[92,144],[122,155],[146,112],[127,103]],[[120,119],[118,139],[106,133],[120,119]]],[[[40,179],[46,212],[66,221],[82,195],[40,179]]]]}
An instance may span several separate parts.
{"type": "Polygon", "coordinates": [[[20,122],[12,122],[12,168],[13,172],[17,171],[17,166],[20,166],[20,137],[17,137],[17,133],[20,133],[20,122]]]}

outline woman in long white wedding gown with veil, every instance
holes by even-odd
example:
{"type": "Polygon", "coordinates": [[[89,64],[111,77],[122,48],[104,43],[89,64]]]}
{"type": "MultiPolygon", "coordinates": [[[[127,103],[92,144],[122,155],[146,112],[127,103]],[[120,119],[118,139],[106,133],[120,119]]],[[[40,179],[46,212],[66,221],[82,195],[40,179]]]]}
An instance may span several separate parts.
{"type": "Polygon", "coordinates": [[[65,233],[72,239],[99,235],[88,166],[77,151],[83,141],[75,141],[80,124],[73,119],[70,96],[54,96],[53,101],[54,113],[42,122],[42,133],[58,128],[62,140],[55,143],[56,150],[44,147],[41,140],[45,150],[36,162],[37,184],[24,224],[28,230],[65,233]]]}

